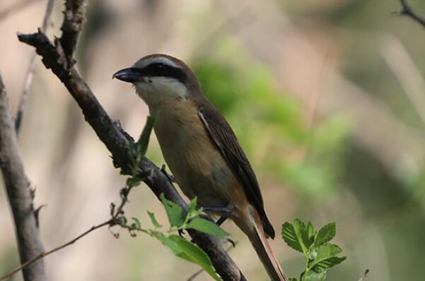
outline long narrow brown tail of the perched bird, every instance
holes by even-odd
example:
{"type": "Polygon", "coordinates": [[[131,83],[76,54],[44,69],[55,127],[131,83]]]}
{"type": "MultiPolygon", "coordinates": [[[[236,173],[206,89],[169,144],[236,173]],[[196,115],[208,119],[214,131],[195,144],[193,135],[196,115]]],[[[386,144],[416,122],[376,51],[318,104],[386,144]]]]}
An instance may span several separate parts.
{"type": "Polygon", "coordinates": [[[255,214],[252,216],[253,221],[250,223],[250,226],[247,225],[246,221],[235,220],[235,222],[250,239],[252,246],[257,252],[258,257],[272,281],[287,281],[284,271],[281,269],[279,262],[274,256],[269,242],[267,242],[260,216],[257,215],[257,212],[253,213],[255,214]]]}

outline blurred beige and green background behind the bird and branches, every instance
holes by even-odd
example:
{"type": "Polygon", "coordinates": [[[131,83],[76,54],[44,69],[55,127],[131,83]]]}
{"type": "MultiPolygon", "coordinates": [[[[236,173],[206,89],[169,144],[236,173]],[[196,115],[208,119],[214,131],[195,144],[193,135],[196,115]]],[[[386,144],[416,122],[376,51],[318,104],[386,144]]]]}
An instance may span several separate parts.
{"type": "MultiPolygon", "coordinates": [[[[0,18],[0,73],[16,110],[33,50],[16,31],[34,32],[46,1],[0,18]]],[[[425,17],[425,3],[410,0],[425,17]]],[[[0,0],[6,10],[10,1],[0,0]]],[[[423,280],[425,237],[425,29],[395,16],[400,3],[368,0],[93,0],[78,45],[78,70],[112,118],[138,136],[148,110],[110,77],[141,56],[167,53],[189,64],[250,158],[275,229],[300,217],[337,222],[347,261],[328,280],[423,280]]],[[[62,1],[48,34],[59,35],[62,1]]],[[[104,220],[124,177],[112,167],[63,85],[37,58],[20,136],[37,189],[46,249],[104,220]]],[[[163,164],[154,136],[148,156],[163,164]]],[[[141,186],[128,213],[166,221],[141,186]]],[[[129,215],[129,216],[130,216],[129,215]]],[[[231,256],[249,280],[267,280],[248,239],[231,256]]],[[[0,189],[0,274],[18,264],[0,189]]],[[[279,237],[284,270],[303,259],[279,237]]],[[[187,280],[197,270],[149,237],[115,239],[99,230],[46,258],[50,280],[187,280]]],[[[21,280],[19,275],[12,280],[21,280]]],[[[197,280],[209,280],[205,274],[197,280]]]]}

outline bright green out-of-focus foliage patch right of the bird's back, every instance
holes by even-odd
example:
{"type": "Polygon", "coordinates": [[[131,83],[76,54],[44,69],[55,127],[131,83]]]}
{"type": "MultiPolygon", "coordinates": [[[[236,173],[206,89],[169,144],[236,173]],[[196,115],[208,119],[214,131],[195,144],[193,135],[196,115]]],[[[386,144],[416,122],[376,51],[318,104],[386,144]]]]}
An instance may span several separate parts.
{"type": "Polygon", "coordinates": [[[301,104],[278,90],[272,71],[245,54],[238,42],[223,40],[216,54],[197,58],[192,66],[252,164],[307,196],[332,191],[349,119],[334,116],[311,127],[301,104]]]}

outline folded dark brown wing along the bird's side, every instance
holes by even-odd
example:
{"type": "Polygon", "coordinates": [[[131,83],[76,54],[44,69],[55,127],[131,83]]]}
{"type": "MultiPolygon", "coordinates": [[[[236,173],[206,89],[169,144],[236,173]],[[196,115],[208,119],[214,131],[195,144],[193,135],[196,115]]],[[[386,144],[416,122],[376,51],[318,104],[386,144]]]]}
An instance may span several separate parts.
{"type": "Polygon", "coordinates": [[[252,170],[231,126],[212,104],[207,102],[198,109],[199,118],[204,123],[209,136],[221,151],[229,167],[243,184],[248,201],[255,207],[261,217],[264,232],[274,238],[274,229],[264,212],[264,203],[257,177],[252,170]]]}

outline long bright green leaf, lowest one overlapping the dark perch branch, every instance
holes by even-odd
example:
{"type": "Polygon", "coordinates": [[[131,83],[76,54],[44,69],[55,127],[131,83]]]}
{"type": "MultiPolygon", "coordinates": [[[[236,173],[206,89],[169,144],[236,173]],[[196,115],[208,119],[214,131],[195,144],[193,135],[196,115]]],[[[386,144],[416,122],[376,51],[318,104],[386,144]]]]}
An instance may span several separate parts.
{"type": "Polygon", "coordinates": [[[202,269],[206,271],[206,273],[214,278],[214,280],[221,280],[219,275],[216,274],[216,271],[212,267],[209,256],[206,255],[206,253],[201,248],[199,248],[199,246],[177,235],[170,235],[169,239],[173,240],[182,250],[182,252],[177,254],[177,256],[185,259],[186,261],[200,265],[202,269]]]}

